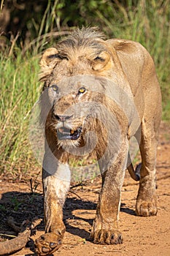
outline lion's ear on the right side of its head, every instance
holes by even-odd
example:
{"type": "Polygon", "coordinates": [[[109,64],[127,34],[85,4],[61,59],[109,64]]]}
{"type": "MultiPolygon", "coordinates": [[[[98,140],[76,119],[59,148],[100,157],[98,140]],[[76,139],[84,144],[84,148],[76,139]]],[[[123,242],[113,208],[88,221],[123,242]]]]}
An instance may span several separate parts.
{"type": "Polygon", "coordinates": [[[110,55],[107,53],[107,51],[101,52],[96,59],[93,60],[92,68],[93,70],[101,70],[104,69],[104,67],[108,64],[110,60],[110,55]]]}

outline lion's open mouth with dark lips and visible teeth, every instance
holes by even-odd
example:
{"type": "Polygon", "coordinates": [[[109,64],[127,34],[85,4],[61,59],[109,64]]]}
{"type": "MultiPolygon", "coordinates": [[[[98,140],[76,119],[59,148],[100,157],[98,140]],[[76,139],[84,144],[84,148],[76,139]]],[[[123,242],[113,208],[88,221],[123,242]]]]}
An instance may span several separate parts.
{"type": "Polygon", "coordinates": [[[75,131],[72,129],[67,129],[66,127],[61,127],[57,129],[57,135],[59,140],[77,140],[80,138],[82,128],[78,128],[75,131]]]}

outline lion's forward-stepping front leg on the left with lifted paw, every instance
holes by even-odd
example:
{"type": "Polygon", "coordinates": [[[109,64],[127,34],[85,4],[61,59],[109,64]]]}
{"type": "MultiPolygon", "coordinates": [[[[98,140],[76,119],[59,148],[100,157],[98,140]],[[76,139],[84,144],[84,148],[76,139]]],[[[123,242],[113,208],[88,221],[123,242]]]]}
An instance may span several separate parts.
{"type": "Polygon", "coordinates": [[[69,190],[70,171],[68,165],[58,164],[55,173],[43,170],[45,234],[36,239],[36,252],[48,255],[62,243],[66,227],[63,224],[63,203],[69,190]]]}

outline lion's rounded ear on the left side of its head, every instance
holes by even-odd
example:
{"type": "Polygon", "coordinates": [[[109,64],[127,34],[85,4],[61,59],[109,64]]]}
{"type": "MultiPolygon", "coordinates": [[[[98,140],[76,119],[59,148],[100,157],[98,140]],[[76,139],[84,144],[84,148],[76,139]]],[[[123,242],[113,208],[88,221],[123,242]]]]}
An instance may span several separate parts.
{"type": "Polygon", "coordinates": [[[39,64],[42,68],[50,66],[51,62],[56,58],[58,58],[58,50],[56,48],[49,48],[43,53],[39,64]]]}

